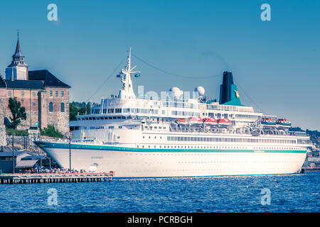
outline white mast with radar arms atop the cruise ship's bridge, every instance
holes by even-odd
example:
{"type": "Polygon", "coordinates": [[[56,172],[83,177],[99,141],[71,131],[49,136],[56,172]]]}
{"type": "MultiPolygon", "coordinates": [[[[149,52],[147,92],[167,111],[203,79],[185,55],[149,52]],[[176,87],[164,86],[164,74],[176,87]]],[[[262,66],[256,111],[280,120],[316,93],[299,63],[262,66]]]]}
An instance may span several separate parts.
{"type": "Polygon", "coordinates": [[[128,62],[125,69],[122,69],[120,72],[120,81],[122,82],[122,89],[119,91],[119,99],[136,99],[136,95],[133,92],[133,86],[132,86],[132,79],[131,74],[139,74],[140,72],[134,72],[134,68],[137,67],[135,65],[134,67],[131,67],[131,47],[129,48],[129,56],[128,56],[128,62]]]}

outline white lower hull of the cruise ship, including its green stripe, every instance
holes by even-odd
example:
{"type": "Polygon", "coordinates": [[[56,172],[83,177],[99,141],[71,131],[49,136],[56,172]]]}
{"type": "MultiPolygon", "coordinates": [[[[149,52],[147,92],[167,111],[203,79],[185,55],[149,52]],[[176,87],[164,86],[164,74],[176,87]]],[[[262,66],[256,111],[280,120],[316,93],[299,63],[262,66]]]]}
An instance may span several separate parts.
{"type": "MultiPolygon", "coordinates": [[[[41,143],[42,149],[53,157],[58,165],[69,168],[69,148],[54,148],[57,143],[53,146],[53,143],[37,143],[41,143]]],[[[114,171],[115,177],[292,174],[300,170],[306,157],[306,150],[208,149],[190,152],[179,150],[161,152],[159,149],[137,151],[134,148],[120,148],[111,145],[94,145],[89,149],[76,147],[77,145],[72,145],[71,149],[72,169],[88,172],[114,171]]]]}

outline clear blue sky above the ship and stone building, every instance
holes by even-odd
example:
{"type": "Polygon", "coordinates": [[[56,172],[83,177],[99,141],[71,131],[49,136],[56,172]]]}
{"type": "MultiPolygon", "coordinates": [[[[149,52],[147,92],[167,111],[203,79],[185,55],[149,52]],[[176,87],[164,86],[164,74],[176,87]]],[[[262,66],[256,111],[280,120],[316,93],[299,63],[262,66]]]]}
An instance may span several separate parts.
{"type": "MultiPolygon", "coordinates": [[[[70,84],[70,101],[99,101],[118,94],[120,68],[92,96],[131,46],[134,55],[174,74],[230,70],[242,104],[319,130],[319,11],[316,0],[1,1],[0,72],[11,62],[19,29],[29,70],[47,69],[70,84]],[[58,6],[58,21],[47,19],[50,3],[58,6]],[[264,3],[271,21],[260,19],[264,3]]],[[[183,79],[132,60],[142,71],[136,93],[138,84],[159,92],[201,85],[218,99],[222,77],[183,79]]]]}

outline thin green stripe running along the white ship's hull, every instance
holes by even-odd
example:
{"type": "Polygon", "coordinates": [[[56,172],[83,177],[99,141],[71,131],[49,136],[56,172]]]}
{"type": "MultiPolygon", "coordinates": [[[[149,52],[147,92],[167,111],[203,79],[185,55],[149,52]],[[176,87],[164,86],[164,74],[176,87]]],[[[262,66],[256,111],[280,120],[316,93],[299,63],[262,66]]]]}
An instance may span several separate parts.
{"type": "MultiPolygon", "coordinates": [[[[69,149],[67,143],[35,142],[40,148],[69,149]]],[[[227,150],[227,149],[184,149],[184,148],[124,148],[106,145],[71,144],[71,149],[85,150],[117,150],[127,152],[171,152],[171,153],[306,153],[306,150],[227,150]]]]}

